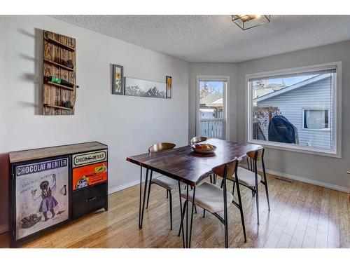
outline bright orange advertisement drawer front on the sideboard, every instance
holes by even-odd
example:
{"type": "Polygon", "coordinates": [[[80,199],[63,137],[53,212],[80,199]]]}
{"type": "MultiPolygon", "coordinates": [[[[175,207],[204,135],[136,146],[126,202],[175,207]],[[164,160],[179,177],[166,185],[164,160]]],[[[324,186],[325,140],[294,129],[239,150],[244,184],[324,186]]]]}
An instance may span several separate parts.
{"type": "Polygon", "coordinates": [[[73,190],[88,187],[107,180],[107,162],[94,163],[73,169],[73,190]]]}

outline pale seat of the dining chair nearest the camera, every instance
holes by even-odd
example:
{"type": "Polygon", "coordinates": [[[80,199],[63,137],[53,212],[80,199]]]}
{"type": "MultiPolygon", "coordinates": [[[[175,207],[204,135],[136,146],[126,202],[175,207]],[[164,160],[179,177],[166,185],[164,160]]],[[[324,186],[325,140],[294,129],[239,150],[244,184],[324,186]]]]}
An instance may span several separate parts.
{"type": "MultiPolygon", "coordinates": [[[[233,196],[229,192],[226,193],[228,207],[230,206],[233,196]]],[[[186,198],[186,191],[181,193],[182,198],[186,198]]],[[[188,201],[193,201],[193,190],[188,191],[188,201]]],[[[219,213],[224,210],[223,204],[223,189],[211,184],[204,182],[196,187],[195,191],[195,205],[208,210],[210,213],[219,213]]]]}

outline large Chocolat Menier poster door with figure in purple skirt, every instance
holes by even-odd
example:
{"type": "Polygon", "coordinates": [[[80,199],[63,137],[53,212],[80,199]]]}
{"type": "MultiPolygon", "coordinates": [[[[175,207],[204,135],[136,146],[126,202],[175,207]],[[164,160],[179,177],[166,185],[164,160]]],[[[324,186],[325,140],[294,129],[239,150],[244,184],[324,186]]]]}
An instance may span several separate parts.
{"type": "Polygon", "coordinates": [[[15,166],[16,240],[69,219],[68,157],[15,166]]]}

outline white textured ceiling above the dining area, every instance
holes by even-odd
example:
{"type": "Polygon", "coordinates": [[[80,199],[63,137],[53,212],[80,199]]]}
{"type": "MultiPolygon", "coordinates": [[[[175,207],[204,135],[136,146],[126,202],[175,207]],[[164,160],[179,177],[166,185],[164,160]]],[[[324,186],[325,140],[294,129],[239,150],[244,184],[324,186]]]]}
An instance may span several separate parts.
{"type": "Polygon", "coordinates": [[[55,15],[188,62],[240,62],[350,39],[350,15],[272,15],[242,31],[230,15],[55,15]]]}

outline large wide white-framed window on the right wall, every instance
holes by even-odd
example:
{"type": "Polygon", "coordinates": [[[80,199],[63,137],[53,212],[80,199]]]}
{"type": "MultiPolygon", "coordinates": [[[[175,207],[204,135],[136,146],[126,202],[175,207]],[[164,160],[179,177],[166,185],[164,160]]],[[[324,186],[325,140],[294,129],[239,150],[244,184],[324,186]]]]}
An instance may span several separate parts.
{"type": "Polygon", "coordinates": [[[248,142],[339,156],[339,67],[247,75],[248,142]]]}

